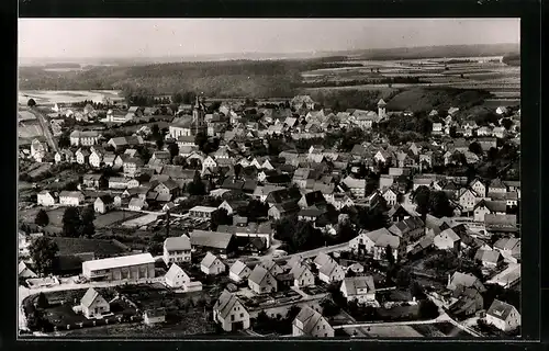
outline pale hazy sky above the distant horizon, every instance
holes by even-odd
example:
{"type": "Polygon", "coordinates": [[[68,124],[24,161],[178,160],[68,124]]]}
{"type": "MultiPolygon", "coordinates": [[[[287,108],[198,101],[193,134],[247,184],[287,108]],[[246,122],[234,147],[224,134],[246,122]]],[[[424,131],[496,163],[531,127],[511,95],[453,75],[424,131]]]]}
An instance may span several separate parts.
{"type": "Polygon", "coordinates": [[[519,19],[20,19],[19,57],[161,57],[519,43],[519,19]]]}

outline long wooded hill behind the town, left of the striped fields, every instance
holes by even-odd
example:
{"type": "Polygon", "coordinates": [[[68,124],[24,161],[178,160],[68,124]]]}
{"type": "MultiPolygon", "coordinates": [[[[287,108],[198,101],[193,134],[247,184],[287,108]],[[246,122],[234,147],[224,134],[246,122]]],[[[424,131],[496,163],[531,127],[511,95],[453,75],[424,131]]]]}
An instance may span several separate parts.
{"type": "Polygon", "coordinates": [[[340,59],[345,57],[111,66],[68,72],[21,67],[19,82],[22,90],[114,89],[126,97],[199,91],[214,98],[288,98],[296,93],[302,71],[333,68],[334,60],[340,59]]]}

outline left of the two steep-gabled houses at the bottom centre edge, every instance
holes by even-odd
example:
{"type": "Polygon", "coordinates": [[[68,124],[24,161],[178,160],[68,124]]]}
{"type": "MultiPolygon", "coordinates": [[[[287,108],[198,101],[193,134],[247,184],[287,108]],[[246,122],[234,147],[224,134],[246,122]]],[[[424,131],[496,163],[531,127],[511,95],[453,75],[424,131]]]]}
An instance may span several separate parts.
{"type": "Polygon", "coordinates": [[[224,290],[213,306],[213,319],[225,331],[249,328],[249,313],[235,294],[224,290]]]}

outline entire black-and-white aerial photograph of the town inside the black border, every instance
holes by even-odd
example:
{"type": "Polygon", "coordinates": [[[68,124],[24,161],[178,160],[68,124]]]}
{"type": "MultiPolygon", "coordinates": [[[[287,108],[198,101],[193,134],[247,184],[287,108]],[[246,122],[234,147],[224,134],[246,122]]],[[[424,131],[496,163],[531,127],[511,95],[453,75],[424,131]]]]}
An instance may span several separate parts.
{"type": "Polygon", "coordinates": [[[519,19],[18,26],[20,340],[520,337],[519,19]]]}

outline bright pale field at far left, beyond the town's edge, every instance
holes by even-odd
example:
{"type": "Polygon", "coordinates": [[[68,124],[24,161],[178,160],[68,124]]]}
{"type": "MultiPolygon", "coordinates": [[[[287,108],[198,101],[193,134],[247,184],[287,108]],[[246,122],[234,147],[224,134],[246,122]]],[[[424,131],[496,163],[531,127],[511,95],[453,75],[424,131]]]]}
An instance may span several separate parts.
{"type": "Polygon", "coordinates": [[[104,99],[111,101],[123,100],[119,97],[117,90],[21,90],[18,95],[20,104],[26,104],[29,99],[34,99],[38,105],[55,103],[71,103],[83,100],[103,102],[104,99]]]}

